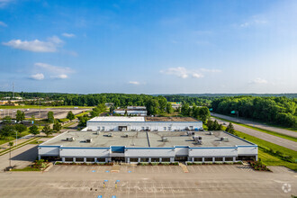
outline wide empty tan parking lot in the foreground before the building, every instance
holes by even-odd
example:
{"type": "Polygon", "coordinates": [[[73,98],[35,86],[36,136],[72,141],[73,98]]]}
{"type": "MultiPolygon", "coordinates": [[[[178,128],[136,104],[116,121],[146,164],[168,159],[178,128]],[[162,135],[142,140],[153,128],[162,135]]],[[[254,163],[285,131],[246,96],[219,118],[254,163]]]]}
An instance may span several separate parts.
{"type": "Polygon", "coordinates": [[[297,193],[297,175],[285,167],[274,167],[274,173],[238,165],[187,167],[189,173],[180,166],[121,166],[120,173],[112,173],[112,166],[53,166],[43,173],[1,173],[0,196],[290,197],[297,193]]]}

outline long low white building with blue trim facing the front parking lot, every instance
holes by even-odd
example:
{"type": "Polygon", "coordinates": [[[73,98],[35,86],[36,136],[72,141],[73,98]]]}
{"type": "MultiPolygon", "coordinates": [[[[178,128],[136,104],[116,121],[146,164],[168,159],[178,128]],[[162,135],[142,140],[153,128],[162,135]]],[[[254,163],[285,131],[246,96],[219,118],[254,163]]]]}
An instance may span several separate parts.
{"type": "Polygon", "coordinates": [[[225,131],[67,131],[39,145],[63,162],[257,160],[257,145],[225,131]]]}

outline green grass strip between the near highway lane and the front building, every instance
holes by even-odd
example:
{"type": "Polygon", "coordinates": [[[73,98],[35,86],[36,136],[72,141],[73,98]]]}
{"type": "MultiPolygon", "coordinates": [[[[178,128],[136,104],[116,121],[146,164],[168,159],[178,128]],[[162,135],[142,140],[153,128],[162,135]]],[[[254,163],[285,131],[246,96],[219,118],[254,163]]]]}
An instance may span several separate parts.
{"type": "MultiPolygon", "coordinates": [[[[223,127],[223,130],[226,128],[223,127]]],[[[235,134],[239,138],[246,139],[247,141],[253,142],[254,144],[257,144],[258,146],[258,157],[261,158],[261,161],[266,166],[286,166],[290,169],[293,169],[294,171],[297,171],[297,164],[284,161],[280,157],[276,157],[271,155],[270,153],[267,153],[266,150],[274,150],[282,152],[284,156],[292,156],[293,160],[297,160],[297,152],[293,149],[284,148],[282,146],[276,145],[274,143],[271,143],[269,141],[258,139],[254,136],[247,135],[246,133],[240,132],[238,130],[235,130],[235,134]],[[266,149],[266,150],[265,150],[266,149]]]]}

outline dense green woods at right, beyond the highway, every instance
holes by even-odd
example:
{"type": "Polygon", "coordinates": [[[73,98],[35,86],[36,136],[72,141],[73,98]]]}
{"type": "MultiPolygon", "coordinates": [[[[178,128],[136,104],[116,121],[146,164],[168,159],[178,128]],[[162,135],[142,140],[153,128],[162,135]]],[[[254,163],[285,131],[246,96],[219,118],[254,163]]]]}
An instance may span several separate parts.
{"type": "Polygon", "coordinates": [[[285,127],[297,127],[297,99],[287,97],[236,96],[222,97],[211,103],[213,112],[238,115],[258,121],[268,121],[285,127]]]}

